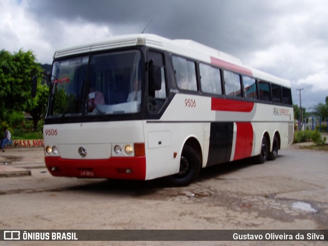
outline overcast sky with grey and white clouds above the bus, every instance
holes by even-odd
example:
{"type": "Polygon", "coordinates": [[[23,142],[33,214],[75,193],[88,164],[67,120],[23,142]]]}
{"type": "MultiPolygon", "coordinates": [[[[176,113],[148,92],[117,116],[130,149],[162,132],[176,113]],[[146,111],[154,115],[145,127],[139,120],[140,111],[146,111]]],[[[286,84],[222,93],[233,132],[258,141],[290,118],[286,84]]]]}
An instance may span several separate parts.
{"type": "Polygon", "coordinates": [[[55,50],[120,34],[193,39],[292,82],[308,108],[328,96],[326,0],[0,0],[0,50],[55,50]]]}

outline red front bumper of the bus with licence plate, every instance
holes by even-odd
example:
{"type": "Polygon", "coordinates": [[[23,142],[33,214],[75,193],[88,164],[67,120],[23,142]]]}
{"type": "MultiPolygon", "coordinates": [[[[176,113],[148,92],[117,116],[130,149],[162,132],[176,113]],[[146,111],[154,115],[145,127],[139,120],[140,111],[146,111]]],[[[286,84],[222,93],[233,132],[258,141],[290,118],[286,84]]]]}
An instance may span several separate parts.
{"type": "Polygon", "coordinates": [[[46,156],[53,176],[145,180],[146,156],[111,157],[105,160],[71,160],[46,156]]]}

